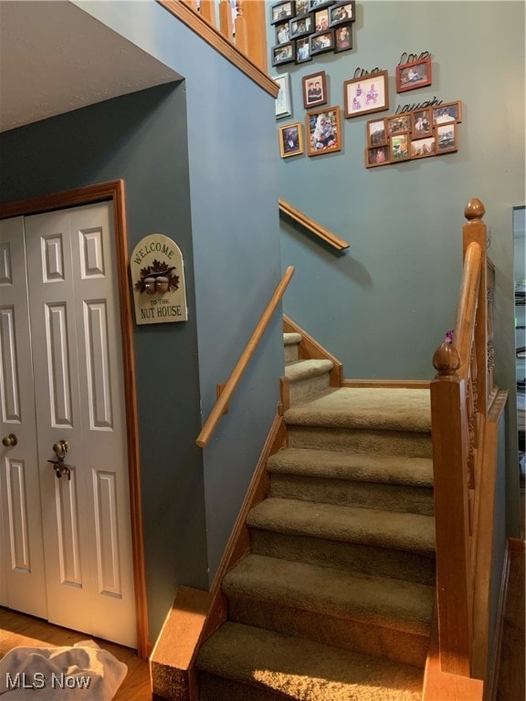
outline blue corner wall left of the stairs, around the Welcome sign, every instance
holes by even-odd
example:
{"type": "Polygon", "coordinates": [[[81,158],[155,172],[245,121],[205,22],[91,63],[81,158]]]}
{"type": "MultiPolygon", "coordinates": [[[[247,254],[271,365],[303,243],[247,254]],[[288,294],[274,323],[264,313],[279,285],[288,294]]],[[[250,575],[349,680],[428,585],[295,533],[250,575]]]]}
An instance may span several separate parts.
{"type": "Polygon", "coordinates": [[[279,282],[274,99],[159,5],[86,5],[184,80],[5,132],[0,201],[123,178],[129,250],[153,232],[182,248],[188,321],[134,329],[153,641],[177,587],[212,581],[276,414],[279,312],[195,445],[279,282]]]}

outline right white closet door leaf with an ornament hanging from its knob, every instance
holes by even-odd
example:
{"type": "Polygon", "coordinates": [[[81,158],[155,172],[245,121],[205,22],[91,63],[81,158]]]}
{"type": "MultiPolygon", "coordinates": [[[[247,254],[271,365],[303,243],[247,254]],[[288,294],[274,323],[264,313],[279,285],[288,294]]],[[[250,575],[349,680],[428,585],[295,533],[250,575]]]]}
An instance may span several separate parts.
{"type": "Polygon", "coordinates": [[[25,237],[47,620],[134,647],[111,205],[26,217],[25,237]]]}

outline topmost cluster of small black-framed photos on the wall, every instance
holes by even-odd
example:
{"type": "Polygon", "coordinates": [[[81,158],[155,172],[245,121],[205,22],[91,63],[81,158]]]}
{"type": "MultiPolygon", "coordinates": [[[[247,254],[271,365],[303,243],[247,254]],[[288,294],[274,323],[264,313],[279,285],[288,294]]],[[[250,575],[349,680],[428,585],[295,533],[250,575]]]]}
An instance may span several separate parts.
{"type": "Polygon", "coordinates": [[[355,0],[285,0],[270,7],[276,34],[272,66],[306,63],[326,51],[352,48],[355,0]]]}

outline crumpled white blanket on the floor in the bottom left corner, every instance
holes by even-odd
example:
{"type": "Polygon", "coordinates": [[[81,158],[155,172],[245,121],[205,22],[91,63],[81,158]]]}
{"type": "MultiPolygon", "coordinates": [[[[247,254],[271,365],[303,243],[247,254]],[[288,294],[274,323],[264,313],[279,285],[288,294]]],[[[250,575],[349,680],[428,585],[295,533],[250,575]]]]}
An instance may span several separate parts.
{"type": "Polygon", "coordinates": [[[92,640],[15,647],[0,660],[0,701],[111,701],[127,673],[92,640]]]}

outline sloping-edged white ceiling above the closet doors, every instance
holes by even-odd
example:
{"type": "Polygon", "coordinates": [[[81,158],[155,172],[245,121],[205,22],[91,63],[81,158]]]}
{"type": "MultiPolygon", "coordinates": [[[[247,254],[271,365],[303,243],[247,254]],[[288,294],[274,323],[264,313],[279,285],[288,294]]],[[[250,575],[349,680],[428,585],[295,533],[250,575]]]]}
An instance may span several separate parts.
{"type": "Polygon", "coordinates": [[[65,0],[0,0],[0,131],[180,79],[65,0]]]}

